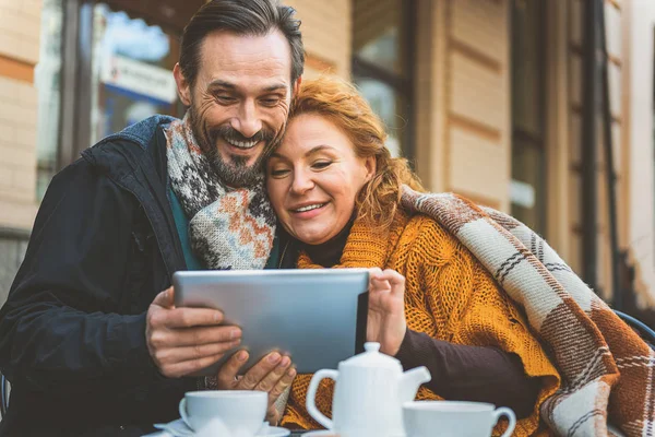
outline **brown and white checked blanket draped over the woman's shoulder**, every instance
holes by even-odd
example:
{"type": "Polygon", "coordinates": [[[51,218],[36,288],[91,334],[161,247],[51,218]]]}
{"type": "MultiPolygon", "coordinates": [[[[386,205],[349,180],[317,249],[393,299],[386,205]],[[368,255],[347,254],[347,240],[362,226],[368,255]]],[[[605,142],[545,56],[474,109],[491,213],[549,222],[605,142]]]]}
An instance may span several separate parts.
{"type": "Polygon", "coordinates": [[[653,436],[655,354],[536,233],[453,193],[404,187],[407,211],[437,220],[526,312],[562,377],[541,405],[561,436],[653,436]]]}

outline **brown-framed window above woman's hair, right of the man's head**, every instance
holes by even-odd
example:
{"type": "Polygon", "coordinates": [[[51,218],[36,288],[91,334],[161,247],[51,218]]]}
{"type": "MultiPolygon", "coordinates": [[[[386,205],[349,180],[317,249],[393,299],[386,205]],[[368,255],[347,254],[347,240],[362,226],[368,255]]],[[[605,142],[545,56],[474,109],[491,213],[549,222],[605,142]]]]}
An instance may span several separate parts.
{"type": "Polygon", "coordinates": [[[414,1],[354,0],[353,82],[386,127],[394,156],[413,157],[414,1]]]}

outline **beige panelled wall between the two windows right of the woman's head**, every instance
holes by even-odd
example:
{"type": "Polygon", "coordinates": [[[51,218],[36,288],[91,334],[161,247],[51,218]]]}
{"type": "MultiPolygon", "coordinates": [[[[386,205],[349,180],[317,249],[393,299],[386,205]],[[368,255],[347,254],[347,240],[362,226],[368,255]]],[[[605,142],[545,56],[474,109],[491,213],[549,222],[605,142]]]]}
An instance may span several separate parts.
{"type": "Polygon", "coordinates": [[[509,1],[419,2],[417,172],[509,210],[509,1]]]}

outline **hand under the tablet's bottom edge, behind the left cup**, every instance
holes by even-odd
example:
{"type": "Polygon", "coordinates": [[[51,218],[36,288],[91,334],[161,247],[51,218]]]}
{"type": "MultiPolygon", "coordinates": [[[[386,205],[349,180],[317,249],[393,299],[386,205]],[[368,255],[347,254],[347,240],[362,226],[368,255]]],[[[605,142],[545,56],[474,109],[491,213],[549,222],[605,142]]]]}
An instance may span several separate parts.
{"type": "Polygon", "coordinates": [[[242,377],[239,369],[248,361],[248,352],[234,354],[218,370],[218,390],[261,390],[269,393],[266,421],[277,425],[282,412],[275,409],[277,398],[294,382],[296,369],[288,356],[272,352],[252,366],[242,377]]]}

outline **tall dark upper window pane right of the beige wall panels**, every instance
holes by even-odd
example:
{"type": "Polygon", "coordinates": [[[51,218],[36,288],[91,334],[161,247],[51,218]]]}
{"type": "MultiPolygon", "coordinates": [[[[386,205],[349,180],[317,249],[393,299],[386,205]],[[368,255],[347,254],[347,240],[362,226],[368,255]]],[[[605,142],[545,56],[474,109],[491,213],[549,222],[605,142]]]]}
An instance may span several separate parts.
{"type": "Polygon", "coordinates": [[[543,134],[543,15],[541,0],[514,0],[512,14],[512,116],[514,127],[543,134]]]}

